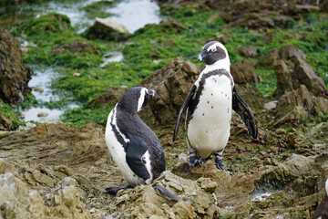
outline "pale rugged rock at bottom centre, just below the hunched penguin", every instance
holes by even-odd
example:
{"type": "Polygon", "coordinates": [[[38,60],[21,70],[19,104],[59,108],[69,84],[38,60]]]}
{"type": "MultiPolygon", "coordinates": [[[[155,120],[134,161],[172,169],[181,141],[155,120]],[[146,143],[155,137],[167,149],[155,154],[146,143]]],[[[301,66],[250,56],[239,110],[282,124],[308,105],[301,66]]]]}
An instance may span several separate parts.
{"type": "Polygon", "coordinates": [[[212,191],[216,183],[210,179],[200,179],[199,183],[183,179],[171,172],[162,172],[154,183],[137,186],[118,193],[114,218],[195,218],[207,215],[212,218],[220,214],[212,191]],[[170,193],[179,196],[180,201],[172,201],[154,189],[157,184],[170,193]],[[201,187],[202,186],[202,187],[201,187]]]}

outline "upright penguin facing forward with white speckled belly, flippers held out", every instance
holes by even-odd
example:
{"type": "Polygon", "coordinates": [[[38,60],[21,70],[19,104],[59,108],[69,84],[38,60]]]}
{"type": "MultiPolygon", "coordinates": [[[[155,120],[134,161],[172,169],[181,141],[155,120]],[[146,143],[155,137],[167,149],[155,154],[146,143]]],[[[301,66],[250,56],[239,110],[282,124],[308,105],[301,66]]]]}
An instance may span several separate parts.
{"type": "Polygon", "coordinates": [[[203,60],[206,67],[200,72],[179,110],[173,141],[176,140],[182,115],[186,112],[190,169],[196,164],[201,166],[201,162],[214,155],[216,167],[229,172],[223,165],[222,153],[230,136],[231,111],[235,110],[241,116],[254,139],[258,136],[256,120],[234,86],[227,49],[220,42],[211,41],[203,47],[197,60],[203,60]]]}

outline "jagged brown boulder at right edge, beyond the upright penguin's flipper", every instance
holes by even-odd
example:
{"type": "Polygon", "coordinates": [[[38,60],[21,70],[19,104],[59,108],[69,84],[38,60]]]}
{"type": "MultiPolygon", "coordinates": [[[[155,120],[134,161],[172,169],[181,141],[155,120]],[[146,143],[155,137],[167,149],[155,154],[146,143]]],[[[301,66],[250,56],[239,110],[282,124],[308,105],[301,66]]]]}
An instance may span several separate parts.
{"type": "Polygon", "coordinates": [[[328,113],[328,92],[323,78],[304,58],[304,52],[292,45],[273,49],[259,57],[261,65],[273,68],[277,78],[276,126],[328,113]]]}

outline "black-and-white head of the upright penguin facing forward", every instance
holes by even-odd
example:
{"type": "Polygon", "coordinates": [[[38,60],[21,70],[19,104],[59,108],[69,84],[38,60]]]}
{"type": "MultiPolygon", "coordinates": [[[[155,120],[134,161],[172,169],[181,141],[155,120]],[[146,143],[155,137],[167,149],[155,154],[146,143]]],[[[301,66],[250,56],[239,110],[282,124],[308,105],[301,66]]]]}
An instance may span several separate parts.
{"type": "Polygon", "coordinates": [[[197,60],[204,60],[206,65],[212,65],[217,61],[228,61],[230,59],[227,49],[218,41],[210,41],[204,47],[201,53],[197,56],[197,60]]]}

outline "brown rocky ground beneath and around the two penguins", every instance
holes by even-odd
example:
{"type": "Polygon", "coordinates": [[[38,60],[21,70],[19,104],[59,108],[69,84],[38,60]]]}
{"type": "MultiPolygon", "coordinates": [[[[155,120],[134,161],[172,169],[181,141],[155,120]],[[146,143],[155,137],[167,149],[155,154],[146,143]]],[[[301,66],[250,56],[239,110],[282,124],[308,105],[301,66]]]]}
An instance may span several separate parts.
{"type": "MultiPolygon", "coordinates": [[[[284,26],[289,18],[297,18],[297,10],[312,10],[313,6],[326,10],[324,3],[315,5],[316,1],[291,1],[293,5],[284,9],[265,1],[258,5],[234,1],[231,9],[224,2],[162,4],[194,8],[225,5],[230,13],[220,11],[218,16],[231,26],[248,28],[284,26]],[[242,19],[237,18],[236,8],[245,8],[238,16],[242,19]],[[259,11],[266,16],[275,11],[279,16],[269,16],[272,20],[263,23],[265,16],[259,11]]],[[[54,54],[69,50],[69,45],[56,47],[54,54]]],[[[91,53],[97,50],[92,45],[86,49],[91,53]]],[[[311,218],[323,198],[323,184],[328,177],[326,85],[298,47],[272,49],[261,57],[257,52],[255,47],[240,47],[241,59],[231,65],[237,89],[251,106],[259,126],[259,137],[253,140],[241,119],[233,114],[231,138],[223,153],[233,176],[217,170],[213,161],[187,171],[183,129],[177,141],[172,141],[179,107],[201,69],[176,57],[138,83],[158,92],[139,115],[156,132],[165,151],[167,171],[159,179],[110,196],[104,193],[105,187],[126,182],[108,153],[101,123],[87,122],[75,128],[57,122],[15,130],[13,122],[2,119],[0,130],[5,131],[0,132],[0,218],[311,218]],[[263,80],[254,73],[258,65],[274,71],[277,86],[272,97],[262,95],[254,86],[263,80]],[[176,194],[179,202],[163,196],[154,188],[158,184],[176,194]]],[[[5,54],[11,57],[11,53],[5,54]]],[[[14,75],[11,65],[0,68],[8,68],[14,75]]],[[[30,77],[28,68],[19,69],[25,70],[20,73],[25,78],[18,83],[20,87],[15,87],[17,93],[22,92],[30,77]]],[[[97,95],[91,106],[115,104],[123,93],[124,89],[109,88],[97,95]]],[[[5,118],[5,114],[0,116],[5,118]]]]}

